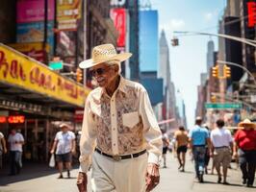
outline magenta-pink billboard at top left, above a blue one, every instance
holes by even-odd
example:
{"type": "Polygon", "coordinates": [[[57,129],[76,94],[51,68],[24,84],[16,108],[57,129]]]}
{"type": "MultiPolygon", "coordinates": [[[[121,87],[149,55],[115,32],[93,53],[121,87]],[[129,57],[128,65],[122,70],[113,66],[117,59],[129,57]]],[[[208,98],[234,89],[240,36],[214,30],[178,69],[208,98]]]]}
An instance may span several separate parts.
{"type": "MultiPolygon", "coordinates": [[[[48,20],[54,19],[54,1],[48,0],[48,20]]],[[[44,20],[44,0],[18,0],[16,22],[28,23],[44,20]]]]}

